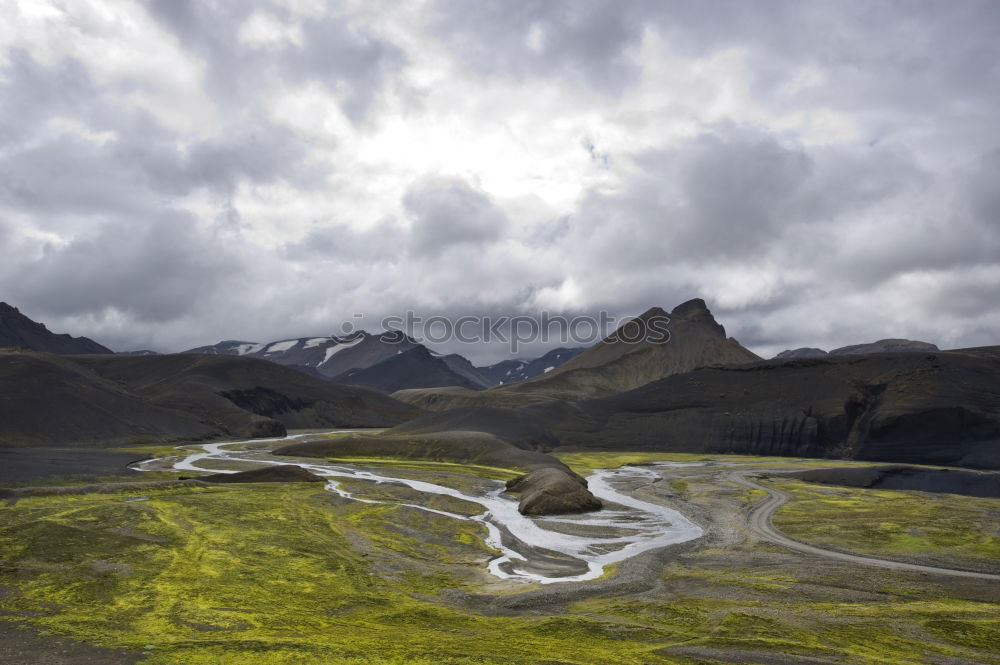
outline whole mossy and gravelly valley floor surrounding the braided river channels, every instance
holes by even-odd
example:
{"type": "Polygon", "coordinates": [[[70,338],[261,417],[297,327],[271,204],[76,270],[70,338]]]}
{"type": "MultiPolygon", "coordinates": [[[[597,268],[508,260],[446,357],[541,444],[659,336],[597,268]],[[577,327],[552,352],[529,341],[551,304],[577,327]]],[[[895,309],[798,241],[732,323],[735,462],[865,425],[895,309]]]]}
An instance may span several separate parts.
{"type": "MultiPolygon", "coordinates": [[[[706,535],[600,580],[543,586],[490,575],[482,525],[401,505],[412,497],[398,486],[349,482],[355,496],[388,503],[306,483],[8,499],[0,663],[1000,665],[1000,582],[796,551],[768,542],[751,519],[769,492],[783,493],[773,524],[798,542],[996,574],[998,499],[781,476],[830,464],[820,460],[564,460],[581,472],[704,462],[651,467],[662,479],[629,491],[706,535]]],[[[488,482],[447,465],[399,465],[400,477],[452,487],[488,482]]]]}

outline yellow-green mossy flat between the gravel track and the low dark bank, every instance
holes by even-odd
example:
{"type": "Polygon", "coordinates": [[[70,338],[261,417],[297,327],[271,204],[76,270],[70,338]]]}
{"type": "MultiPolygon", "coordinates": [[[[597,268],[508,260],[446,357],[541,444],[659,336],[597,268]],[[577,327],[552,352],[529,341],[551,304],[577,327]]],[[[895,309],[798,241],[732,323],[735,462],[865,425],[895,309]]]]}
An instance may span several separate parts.
{"type": "Polygon", "coordinates": [[[776,527],[815,545],[1000,570],[1000,499],[770,480],[792,496],[776,527]]]}

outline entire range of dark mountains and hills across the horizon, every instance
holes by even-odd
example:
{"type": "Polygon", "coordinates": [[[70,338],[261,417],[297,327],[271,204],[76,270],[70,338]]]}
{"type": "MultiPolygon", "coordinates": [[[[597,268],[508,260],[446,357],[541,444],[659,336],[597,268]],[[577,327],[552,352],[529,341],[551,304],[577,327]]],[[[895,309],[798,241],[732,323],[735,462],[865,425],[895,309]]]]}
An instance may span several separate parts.
{"type": "Polygon", "coordinates": [[[9,346],[91,353],[0,352],[0,446],[397,425],[309,454],[535,468],[560,467],[546,453],[573,446],[1000,467],[1000,347],[887,339],[762,361],[700,299],[654,307],[582,352],[486,368],[398,333],[118,355],[10,306],[0,323],[9,346]]]}

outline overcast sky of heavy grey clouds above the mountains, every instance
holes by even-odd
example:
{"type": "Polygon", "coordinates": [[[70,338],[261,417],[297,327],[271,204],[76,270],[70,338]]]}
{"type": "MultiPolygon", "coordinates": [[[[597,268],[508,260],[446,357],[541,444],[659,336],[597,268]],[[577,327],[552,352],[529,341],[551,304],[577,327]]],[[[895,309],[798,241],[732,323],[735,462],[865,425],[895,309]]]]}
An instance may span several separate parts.
{"type": "Polygon", "coordinates": [[[57,332],[179,351],[701,297],[766,357],[1000,344],[993,0],[0,15],[0,300],[57,332]]]}

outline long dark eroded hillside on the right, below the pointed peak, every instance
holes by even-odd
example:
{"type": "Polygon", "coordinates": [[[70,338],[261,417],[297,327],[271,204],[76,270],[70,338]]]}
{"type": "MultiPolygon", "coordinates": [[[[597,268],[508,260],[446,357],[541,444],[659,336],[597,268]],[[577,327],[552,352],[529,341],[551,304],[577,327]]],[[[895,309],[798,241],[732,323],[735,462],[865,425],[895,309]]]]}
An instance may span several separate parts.
{"type": "MultiPolygon", "coordinates": [[[[618,395],[430,413],[386,441],[733,453],[1000,468],[1000,347],[701,367],[618,395]]],[[[439,453],[443,454],[443,453],[439,453]]]]}

